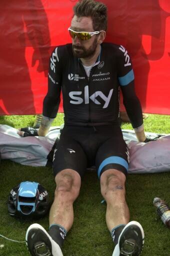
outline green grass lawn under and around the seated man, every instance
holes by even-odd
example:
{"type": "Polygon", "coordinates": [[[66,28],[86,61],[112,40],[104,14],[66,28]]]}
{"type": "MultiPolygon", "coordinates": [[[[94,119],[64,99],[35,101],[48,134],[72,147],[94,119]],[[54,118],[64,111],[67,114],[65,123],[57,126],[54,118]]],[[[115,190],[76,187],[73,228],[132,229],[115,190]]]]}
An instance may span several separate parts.
{"type": "MultiPolygon", "coordinates": [[[[13,127],[32,125],[34,115],[1,116],[0,123],[13,127]]],[[[58,114],[52,125],[63,123],[63,114],[58,114]]],[[[151,115],[144,120],[146,131],[169,133],[170,116],[151,115]]],[[[130,124],[122,128],[131,129],[130,124]]],[[[33,221],[19,221],[9,216],[6,208],[10,189],[23,180],[41,183],[48,191],[52,202],[55,183],[52,169],[31,167],[2,160],[0,164],[0,234],[23,241],[27,227],[33,221]]],[[[137,220],[143,226],[145,243],[142,256],[170,256],[170,231],[155,212],[152,200],[155,196],[170,203],[170,172],[154,174],[130,174],[126,181],[126,200],[130,209],[130,220],[137,220]]],[[[64,256],[111,256],[113,243],[105,224],[105,203],[95,172],[88,171],[82,181],[80,195],[74,203],[74,224],[66,236],[64,256]]],[[[37,221],[48,228],[48,216],[37,221]]],[[[8,241],[0,237],[0,256],[28,256],[25,244],[8,241]]]]}

